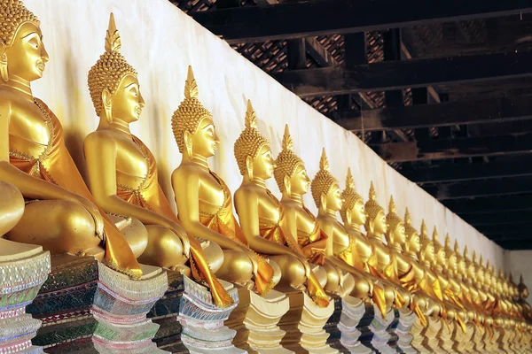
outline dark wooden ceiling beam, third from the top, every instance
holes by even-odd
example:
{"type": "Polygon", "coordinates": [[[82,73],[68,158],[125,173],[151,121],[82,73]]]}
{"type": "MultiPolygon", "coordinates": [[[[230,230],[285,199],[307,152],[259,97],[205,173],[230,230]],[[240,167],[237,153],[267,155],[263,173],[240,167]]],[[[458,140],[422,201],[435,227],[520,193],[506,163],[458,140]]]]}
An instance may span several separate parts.
{"type": "Polygon", "coordinates": [[[333,112],[332,118],[341,127],[354,132],[500,123],[532,119],[532,96],[414,104],[366,111],[338,111],[333,112]]]}

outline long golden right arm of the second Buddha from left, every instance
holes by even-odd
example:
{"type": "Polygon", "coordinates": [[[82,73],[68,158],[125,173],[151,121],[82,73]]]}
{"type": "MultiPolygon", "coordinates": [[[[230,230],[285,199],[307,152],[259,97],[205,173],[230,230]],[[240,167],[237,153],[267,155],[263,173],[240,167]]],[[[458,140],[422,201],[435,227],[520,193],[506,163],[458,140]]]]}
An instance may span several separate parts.
{"type": "Polygon", "coordinates": [[[183,242],[184,254],[189,254],[190,241],[183,227],[116,195],[116,142],[112,135],[105,131],[88,135],[83,142],[83,152],[87,162],[90,192],[105,212],[135,218],[145,225],[168,227],[183,242]]]}

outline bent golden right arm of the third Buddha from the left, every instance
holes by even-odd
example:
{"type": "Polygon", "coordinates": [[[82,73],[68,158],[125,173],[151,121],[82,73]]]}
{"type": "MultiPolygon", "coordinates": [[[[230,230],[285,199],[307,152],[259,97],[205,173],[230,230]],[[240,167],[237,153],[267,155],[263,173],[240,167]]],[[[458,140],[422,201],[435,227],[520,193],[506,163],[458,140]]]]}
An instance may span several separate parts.
{"type": "Polygon", "coordinates": [[[232,241],[214,230],[203,225],[200,221],[200,177],[192,169],[176,169],[172,173],[172,188],[176,196],[179,220],[184,229],[190,234],[218,243],[225,250],[241,250],[253,258],[246,246],[232,241]]]}

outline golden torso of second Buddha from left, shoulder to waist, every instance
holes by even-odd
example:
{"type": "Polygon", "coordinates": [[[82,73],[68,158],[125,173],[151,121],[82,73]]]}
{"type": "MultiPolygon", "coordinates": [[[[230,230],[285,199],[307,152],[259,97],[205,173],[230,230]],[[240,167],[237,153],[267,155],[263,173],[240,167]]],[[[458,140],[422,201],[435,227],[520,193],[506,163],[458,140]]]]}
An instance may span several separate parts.
{"type": "MultiPolygon", "coordinates": [[[[110,132],[110,131],[107,131],[110,132]]],[[[148,177],[148,151],[131,137],[111,132],[116,142],[116,183],[128,189],[138,189],[148,177]]]]}

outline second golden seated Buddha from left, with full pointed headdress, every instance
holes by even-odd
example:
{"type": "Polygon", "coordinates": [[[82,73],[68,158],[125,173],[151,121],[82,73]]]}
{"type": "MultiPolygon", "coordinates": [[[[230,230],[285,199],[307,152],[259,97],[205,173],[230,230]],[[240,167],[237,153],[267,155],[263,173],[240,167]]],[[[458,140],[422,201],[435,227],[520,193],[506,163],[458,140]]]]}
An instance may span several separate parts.
{"type": "Polygon", "coordinates": [[[159,185],[157,164],[152,152],[129,124],[140,117],[145,101],[137,73],[120,53],[120,36],[113,14],[106,35],[106,52],[89,72],[89,89],[100,119],[98,129],[84,141],[90,190],[102,209],[141,221],[147,242],[138,260],[147,265],[172,270],[190,258],[197,281],[205,281],[216,305],[232,304],[231,296],[215,278],[223,262],[222,250],[210,242],[206,253],[193,236],[186,235],[159,185]]]}

